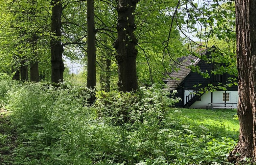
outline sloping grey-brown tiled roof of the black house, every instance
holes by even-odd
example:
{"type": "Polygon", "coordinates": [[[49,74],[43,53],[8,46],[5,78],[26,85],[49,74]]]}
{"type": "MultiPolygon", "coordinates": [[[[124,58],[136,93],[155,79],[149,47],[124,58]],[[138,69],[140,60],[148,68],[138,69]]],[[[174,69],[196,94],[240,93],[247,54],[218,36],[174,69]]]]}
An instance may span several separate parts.
{"type": "MultiPolygon", "coordinates": [[[[203,54],[203,53],[202,53],[203,54]]],[[[167,86],[171,89],[177,88],[180,83],[188,76],[191,72],[191,69],[188,66],[197,65],[200,61],[200,58],[197,58],[193,55],[185,56],[178,58],[179,65],[177,65],[178,71],[173,71],[168,73],[171,77],[167,77],[164,81],[167,81],[167,86]]]]}

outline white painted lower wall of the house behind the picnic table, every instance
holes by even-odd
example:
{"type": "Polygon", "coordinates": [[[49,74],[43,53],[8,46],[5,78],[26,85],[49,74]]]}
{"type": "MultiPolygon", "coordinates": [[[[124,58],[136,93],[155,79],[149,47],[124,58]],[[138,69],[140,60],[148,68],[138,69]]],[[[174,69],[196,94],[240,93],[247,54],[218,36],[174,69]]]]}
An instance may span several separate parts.
{"type": "MultiPolygon", "coordinates": [[[[189,95],[190,92],[192,91],[185,90],[184,104],[186,104],[186,96],[189,95]]],[[[213,103],[224,103],[222,101],[223,93],[225,93],[225,91],[214,91],[212,93],[213,103]]],[[[230,93],[230,101],[227,103],[238,103],[238,91],[227,91],[227,93],[230,93]]],[[[190,108],[206,108],[208,103],[211,103],[211,92],[205,93],[201,97],[202,101],[195,101],[190,108]]]]}

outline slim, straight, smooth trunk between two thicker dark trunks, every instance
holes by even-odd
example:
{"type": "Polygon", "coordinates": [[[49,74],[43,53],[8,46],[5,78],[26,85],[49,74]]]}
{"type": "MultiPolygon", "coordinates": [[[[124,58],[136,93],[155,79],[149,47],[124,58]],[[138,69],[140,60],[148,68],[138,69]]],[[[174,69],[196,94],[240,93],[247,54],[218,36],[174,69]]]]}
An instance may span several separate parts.
{"type": "Polygon", "coordinates": [[[87,87],[96,86],[96,36],[94,26],[94,0],[87,0],[87,87]]]}

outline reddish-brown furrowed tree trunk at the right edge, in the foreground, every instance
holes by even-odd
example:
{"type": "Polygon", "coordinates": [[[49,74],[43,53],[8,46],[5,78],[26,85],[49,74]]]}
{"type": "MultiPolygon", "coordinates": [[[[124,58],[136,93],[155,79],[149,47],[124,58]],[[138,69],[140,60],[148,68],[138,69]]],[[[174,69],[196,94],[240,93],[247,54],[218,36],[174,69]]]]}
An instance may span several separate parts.
{"type": "Polygon", "coordinates": [[[239,141],[229,161],[256,160],[256,1],[236,0],[239,141]]]}

